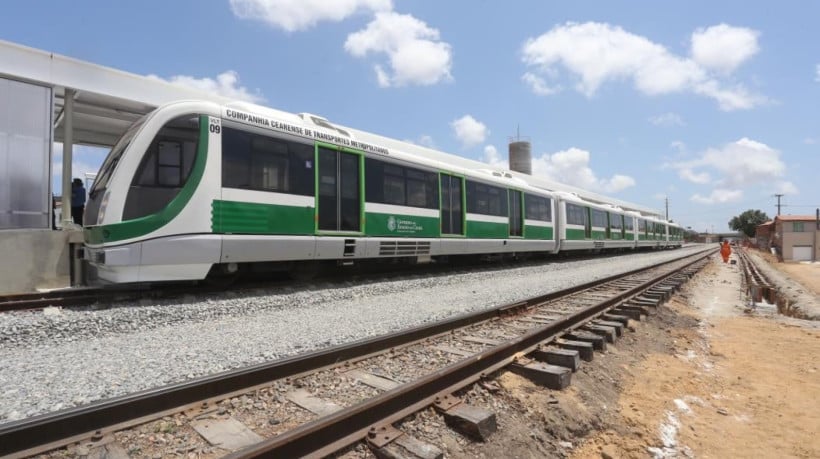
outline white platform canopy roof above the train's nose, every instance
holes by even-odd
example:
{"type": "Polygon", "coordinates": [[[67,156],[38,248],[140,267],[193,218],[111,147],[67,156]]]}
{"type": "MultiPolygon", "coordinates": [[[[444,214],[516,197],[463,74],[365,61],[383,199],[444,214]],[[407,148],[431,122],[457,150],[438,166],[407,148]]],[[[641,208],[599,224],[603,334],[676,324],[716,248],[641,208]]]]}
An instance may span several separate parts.
{"type": "Polygon", "coordinates": [[[0,40],[0,77],[46,86],[54,97],[54,137],[63,137],[66,88],[74,89],[74,142],[112,146],[140,116],[175,100],[231,99],[0,40]]]}

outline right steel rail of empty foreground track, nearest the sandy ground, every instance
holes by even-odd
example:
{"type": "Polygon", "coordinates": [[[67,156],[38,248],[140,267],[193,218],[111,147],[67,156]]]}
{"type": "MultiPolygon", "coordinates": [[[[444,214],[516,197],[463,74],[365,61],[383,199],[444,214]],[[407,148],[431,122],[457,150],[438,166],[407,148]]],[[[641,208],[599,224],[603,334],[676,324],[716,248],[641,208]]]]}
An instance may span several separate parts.
{"type": "MultiPolygon", "coordinates": [[[[706,256],[698,257],[679,270],[697,263],[706,256]]],[[[544,342],[554,340],[566,333],[568,329],[580,326],[620,304],[623,300],[647,290],[675,272],[655,276],[610,299],[538,327],[521,337],[499,344],[419,380],[401,385],[358,405],[321,417],[226,457],[231,459],[321,457],[338,451],[355,441],[365,439],[374,426],[398,421],[432,404],[436,397],[447,395],[478,381],[485,375],[514,362],[518,356],[535,350],[544,342]]]]}

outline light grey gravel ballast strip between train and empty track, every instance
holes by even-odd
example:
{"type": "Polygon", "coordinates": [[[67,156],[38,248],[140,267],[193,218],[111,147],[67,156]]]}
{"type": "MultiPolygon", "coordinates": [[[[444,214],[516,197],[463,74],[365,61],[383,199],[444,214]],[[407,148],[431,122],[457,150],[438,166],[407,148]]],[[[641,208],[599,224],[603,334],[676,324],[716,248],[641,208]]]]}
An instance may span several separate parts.
{"type": "Polygon", "coordinates": [[[512,303],[709,248],[0,314],[0,423],[512,303]]]}

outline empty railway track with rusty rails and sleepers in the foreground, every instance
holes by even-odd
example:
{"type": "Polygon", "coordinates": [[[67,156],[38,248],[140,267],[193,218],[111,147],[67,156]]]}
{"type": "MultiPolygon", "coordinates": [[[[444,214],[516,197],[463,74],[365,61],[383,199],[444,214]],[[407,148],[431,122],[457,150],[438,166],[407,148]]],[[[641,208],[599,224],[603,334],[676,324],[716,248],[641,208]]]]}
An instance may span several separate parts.
{"type": "MultiPolygon", "coordinates": [[[[225,449],[218,450],[233,451],[232,457],[321,456],[362,441],[387,454],[397,448],[434,451],[435,445],[424,445],[400,430],[403,418],[429,406],[448,424],[465,428],[466,435],[486,437],[495,428],[493,413],[464,403],[458,397],[461,389],[491,381],[503,368],[550,388],[566,387],[582,360],[591,360],[595,350],[617,340],[630,319],[650,314],[712,253],[403,332],[0,425],[0,455],[26,456],[71,443],[89,451],[112,448],[118,435],[114,432],[171,415],[177,422],[184,420],[180,428],[204,438],[220,429],[213,426],[241,432],[233,437],[246,438],[248,444],[223,443],[225,449]],[[245,398],[248,403],[233,403],[245,398]],[[264,422],[271,412],[285,421],[264,422]]],[[[216,437],[209,441],[219,443],[216,437]]]]}

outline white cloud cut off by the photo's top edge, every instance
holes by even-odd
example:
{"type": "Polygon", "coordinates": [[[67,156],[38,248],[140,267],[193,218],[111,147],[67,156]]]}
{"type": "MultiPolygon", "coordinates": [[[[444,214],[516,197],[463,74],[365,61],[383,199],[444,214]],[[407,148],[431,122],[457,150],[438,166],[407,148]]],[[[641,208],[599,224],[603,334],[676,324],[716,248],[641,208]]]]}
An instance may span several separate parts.
{"type": "Polygon", "coordinates": [[[242,19],[258,19],[288,32],[306,30],[320,21],[338,22],[359,11],[390,11],[391,0],[230,0],[242,19]]]}

